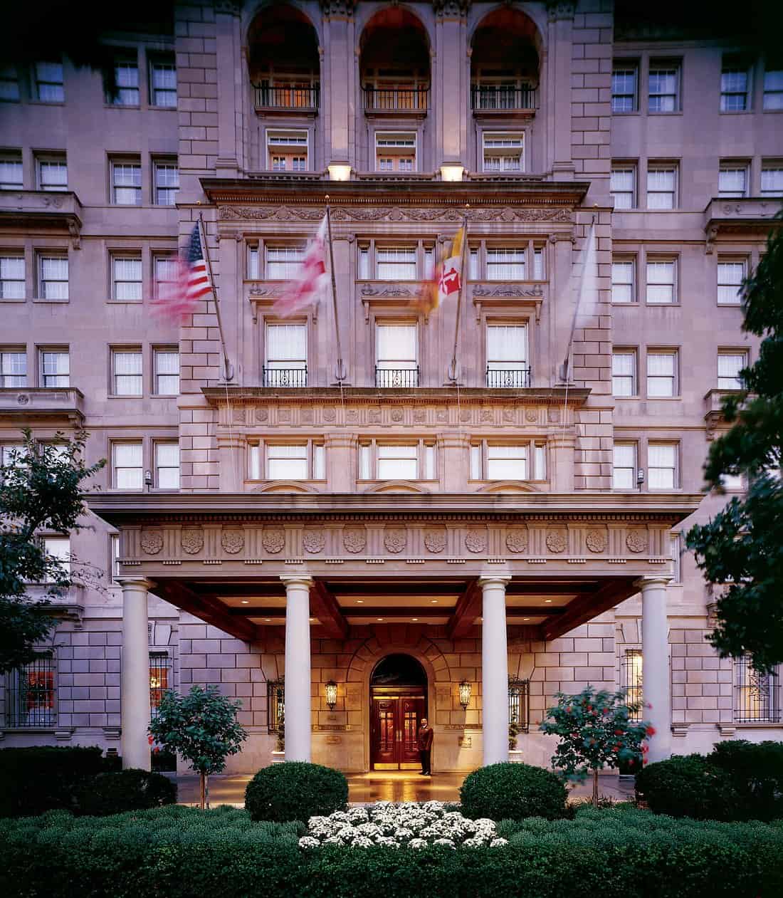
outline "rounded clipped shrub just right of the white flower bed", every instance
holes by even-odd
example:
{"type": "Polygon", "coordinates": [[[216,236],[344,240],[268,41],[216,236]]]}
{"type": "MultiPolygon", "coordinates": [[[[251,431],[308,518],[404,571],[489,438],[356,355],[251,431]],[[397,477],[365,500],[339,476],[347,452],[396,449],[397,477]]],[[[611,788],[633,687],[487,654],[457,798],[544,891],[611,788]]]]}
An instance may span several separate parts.
{"type": "Polygon", "coordinates": [[[462,814],[477,820],[524,820],[566,814],[567,790],[557,774],[531,764],[489,764],[462,783],[462,814]]]}

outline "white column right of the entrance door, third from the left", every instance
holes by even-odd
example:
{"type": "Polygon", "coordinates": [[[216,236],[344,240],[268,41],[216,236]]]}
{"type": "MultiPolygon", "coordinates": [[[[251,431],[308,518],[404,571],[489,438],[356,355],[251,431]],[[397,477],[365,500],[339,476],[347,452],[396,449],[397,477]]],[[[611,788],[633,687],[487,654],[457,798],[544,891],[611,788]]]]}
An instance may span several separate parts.
{"type": "Polygon", "coordinates": [[[479,577],[481,622],[481,721],[484,766],[508,761],[508,651],[506,583],[509,576],[479,577]]]}

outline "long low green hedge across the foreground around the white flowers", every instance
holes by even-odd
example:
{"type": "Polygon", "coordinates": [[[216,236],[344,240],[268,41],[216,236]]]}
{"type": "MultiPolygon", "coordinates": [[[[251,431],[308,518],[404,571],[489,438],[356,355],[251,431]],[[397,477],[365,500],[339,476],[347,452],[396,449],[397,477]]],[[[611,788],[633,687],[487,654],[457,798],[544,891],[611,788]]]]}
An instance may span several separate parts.
{"type": "Polygon", "coordinates": [[[301,823],[233,808],[0,821],[4,898],[779,898],[780,823],[579,810],[500,824],[506,848],[297,848],[301,823]]]}

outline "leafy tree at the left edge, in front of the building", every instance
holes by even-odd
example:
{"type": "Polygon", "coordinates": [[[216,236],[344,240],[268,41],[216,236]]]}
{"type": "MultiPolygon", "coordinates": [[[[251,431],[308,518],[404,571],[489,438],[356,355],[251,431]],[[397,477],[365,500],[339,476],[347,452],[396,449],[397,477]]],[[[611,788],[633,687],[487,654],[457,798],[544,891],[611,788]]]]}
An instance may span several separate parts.
{"type": "Polygon", "coordinates": [[[67,439],[57,433],[40,443],[29,429],[10,457],[0,459],[0,673],[30,664],[34,646],[52,628],[52,600],[64,594],[74,577],[87,577],[44,549],[40,533],[78,533],[86,512],[85,481],[105,461],[84,462],[85,433],[67,439]],[[29,594],[44,585],[42,597],[29,594]]]}

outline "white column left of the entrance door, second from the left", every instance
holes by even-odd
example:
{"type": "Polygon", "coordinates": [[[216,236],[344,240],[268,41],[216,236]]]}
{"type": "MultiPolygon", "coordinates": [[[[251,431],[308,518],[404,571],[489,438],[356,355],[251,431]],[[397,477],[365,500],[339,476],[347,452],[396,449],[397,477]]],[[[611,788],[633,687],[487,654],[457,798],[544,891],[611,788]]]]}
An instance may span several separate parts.
{"type": "Polygon", "coordinates": [[[312,577],[280,579],[286,586],[286,761],[310,761],[312,577]]]}

